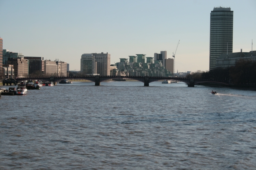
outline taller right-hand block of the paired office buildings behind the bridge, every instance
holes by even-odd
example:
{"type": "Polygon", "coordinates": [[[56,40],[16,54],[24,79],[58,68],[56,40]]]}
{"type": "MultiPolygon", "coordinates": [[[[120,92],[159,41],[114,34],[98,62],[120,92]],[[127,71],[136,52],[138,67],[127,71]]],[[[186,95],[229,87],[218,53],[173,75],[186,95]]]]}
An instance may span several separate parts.
{"type": "Polygon", "coordinates": [[[109,53],[92,53],[97,62],[97,74],[110,75],[110,54],[109,53]]]}

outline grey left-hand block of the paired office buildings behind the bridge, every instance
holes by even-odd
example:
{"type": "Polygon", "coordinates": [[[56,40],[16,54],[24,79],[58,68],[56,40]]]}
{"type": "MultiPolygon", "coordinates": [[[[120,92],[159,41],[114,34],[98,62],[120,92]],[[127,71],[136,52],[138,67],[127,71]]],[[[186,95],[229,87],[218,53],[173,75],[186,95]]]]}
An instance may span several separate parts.
{"type": "Polygon", "coordinates": [[[80,60],[80,71],[83,74],[96,74],[97,62],[93,54],[83,54],[80,60]]]}

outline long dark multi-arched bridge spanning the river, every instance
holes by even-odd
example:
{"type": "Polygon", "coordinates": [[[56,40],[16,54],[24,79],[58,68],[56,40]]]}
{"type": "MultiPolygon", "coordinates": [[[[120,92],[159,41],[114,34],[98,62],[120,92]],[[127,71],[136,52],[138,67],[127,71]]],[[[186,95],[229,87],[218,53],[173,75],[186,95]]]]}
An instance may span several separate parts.
{"type": "MultiPolygon", "coordinates": [[[[158,80],[178,80],[181,82],[187,83],[188,87],[194,87],[195,84],[203,83],[203,82],[215,82],[220,84],[228,85],[228,81],[221,81],[221,80],[207,80],[207,79],[193,79],[190,78],[181,78],[181,77],[148,77],[148,76],[72,76],[72,77],[20,77],[16,78],[17,82],[24,81],[24,80],[45,80],[45,81],[52,81],[54,85],[57,82],[65,79],[85,79],[95,82],[95,86],[100,86],[100,82],[109,80],[109,79],[134,79],[144,83],[144,86],[149,86],[150,82],[158,81],[158,80]]],[[[3,81],[4,83],[4,81],[3,81]]]]}

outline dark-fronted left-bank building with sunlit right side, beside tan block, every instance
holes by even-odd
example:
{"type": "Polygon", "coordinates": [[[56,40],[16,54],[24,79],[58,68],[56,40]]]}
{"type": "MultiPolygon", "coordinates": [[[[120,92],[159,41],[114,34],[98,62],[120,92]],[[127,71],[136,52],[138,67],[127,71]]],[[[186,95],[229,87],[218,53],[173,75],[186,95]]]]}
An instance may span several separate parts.
{"type": "Polygon", "coordinates": [[[45,71],[45,62],[43,57],[24,57],[28,59],[28,73],[30,76],[41,76],[45,71]]]}

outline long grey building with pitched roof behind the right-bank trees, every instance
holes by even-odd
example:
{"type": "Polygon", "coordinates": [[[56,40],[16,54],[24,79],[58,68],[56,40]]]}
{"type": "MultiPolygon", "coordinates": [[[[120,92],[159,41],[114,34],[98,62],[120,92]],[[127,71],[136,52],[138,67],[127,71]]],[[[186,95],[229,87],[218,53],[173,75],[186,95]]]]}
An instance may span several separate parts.
{"type": "Polygon", "coordinates": [[[228,68],[235,66],[238,60],[256,60],[256,51],[243,52],[242,49],[237,53],[223,53],[216,59],[215,68],[228,68]]]}

